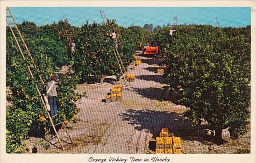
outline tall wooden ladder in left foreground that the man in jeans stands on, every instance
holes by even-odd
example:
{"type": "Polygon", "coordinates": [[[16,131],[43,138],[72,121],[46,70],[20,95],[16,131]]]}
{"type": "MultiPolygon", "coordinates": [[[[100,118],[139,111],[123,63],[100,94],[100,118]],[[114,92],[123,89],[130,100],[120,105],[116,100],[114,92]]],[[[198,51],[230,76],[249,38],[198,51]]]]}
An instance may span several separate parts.
{"type": "Polygon", "coordinates": [[[28,50],[27,44],[25,43],[24,38],[21,35],[21,31],[19,30],[16,22],[14,21],[14,17],[11,14],[11,11],[10,11],[9,7],[7,7],[6,10],[7,10],[7,13],[8,13],[8,15],[6,17],[7,25],[10,28],[10,31],[11,31],[13,37],[14,37],[15,43],[18,46],[18,50],[21,53],[22,59],[24,60],[24,62],[26,64],[26,67],[28,69],[29,75],[30,75],[32,81],[34,81],[34,83],[35,83],[36,92],[38,93],[39,98],[40,98],[40,100],[41,100],[41,102],[43,104],[43,109],[44,109],[44,111],[47,113],[47,115],[49,117],[50,124],[51,124],[51,126],[52,126],[52,128],[53,128],[53,130],[55,132],[55,135],[56,135],[57,140],[58,140],[58,142],[59,142],[59,144],[61,146],[61,149],[63,150],[64,146],[63,146],[63,144],[61,142],[61,139],[59,138],[59,135],[57,133],[57,130],[56,130],[55,126],[57,126],[59,124],[62,124],[64,126],[64,129],[65,129],[69,139],[71,140],[71,143],[73,145],[74,145],[74,143],[73,143],[73,141],[71,139],[71,136],[70,136],[70,134],[69,134],[69,132],[68,132],[64,122],[60,122],[60,123],[57,123],[56,125],[54,125],[54,123],[53,123],[53,121],[52,121],[52,119],[50,117],[50,113],[47,110],[46,102],[44,101],[43,96],[41,94],[41,92],[43,91],[44,88],[43,88],[43,86],[41,86],[42,88],[40,89],[39,86],[38,86],[38,85],[40,85],[40,83],[42,85],[44,85],[44,81],[43,81],[42,75],[41,75],[40,71],[38,70],[38,68],[37,68],[37,66],[36,66],[36,64],[35,64],[35,62],[33,60],[33,57],[31,56],[31,54],[30,54],[30,52],[28,50]],[[18,36],[16,36],[16,35],[18,35],[18,36]]]}

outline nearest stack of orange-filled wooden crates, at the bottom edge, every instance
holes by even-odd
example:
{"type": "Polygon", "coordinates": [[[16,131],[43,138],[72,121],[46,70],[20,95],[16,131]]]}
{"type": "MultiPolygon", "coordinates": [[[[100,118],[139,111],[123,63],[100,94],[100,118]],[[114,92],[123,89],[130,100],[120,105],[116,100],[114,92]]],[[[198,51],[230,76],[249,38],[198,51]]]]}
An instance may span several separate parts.
{"type": "Polygon", "coordinates": [[[180,154],[181,140],[180,137],[168,136],[168,128],[162,128],[159,137],[156,137],[157,154],[180,154]]]}

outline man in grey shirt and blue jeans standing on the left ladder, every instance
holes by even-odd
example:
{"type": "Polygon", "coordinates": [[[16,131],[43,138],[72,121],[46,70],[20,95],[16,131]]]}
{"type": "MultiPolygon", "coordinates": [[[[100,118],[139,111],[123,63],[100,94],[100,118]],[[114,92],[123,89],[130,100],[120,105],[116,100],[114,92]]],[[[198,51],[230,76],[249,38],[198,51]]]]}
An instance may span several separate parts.
{"type": "Polygon", "coordinates": [[[46,95],[48,95],[48,101],[49,101],[49,105],[50,105],[50,116],[52,118],[55,118],[57,115],[57,105],[56,105],[57,91],[56,91],[56,88],[57,88],[56,76],[53,75],[53,76],[51,76],[51,81],[48,82],[46,85],[46,91],[47,91],[46,95]]]}

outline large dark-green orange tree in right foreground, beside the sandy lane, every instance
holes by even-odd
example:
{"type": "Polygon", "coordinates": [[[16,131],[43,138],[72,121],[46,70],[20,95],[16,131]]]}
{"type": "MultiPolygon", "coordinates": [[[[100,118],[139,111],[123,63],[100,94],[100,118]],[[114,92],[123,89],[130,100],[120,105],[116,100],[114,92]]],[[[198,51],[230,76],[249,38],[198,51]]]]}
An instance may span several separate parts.
{"type": "MultiPolygon", "coordinates": [[[[168,28],[161,29],[156,40],[167,67],[165,76],[170,77],[172,89],[182,94],[178,102],[190,108],[185,115],[193,123],[207,120],[217,140],[221,140],[224,128],[233,138],[244,134],[250,106],[248,35],[239,29],[212,26],[177,29],[173,38],[168,28]]],[[[250,33],[250,28],[246,33],[250,33]]]]}

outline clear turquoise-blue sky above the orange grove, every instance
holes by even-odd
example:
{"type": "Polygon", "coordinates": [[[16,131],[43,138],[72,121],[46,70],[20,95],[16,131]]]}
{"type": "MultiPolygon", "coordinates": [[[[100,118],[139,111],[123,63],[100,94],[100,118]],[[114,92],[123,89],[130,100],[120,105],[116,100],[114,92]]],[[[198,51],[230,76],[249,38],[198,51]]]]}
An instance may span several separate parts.
{"type": "Polygon", "coordinates": [[[51,24],[67,16],[71,25],[81,26],[86,21],[101,23],[100,10],[108,19],[115,19],[118,25],[132,24],[143,27],[172,23],[178,15],[177,24],[210,24],[221,27],[245,27],[251,24],[250,7],[10,7],[17,23],[32,21],[36,25],[51,24]]]}

